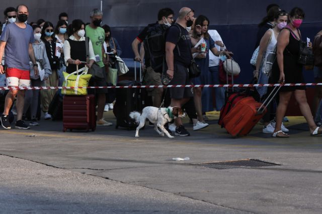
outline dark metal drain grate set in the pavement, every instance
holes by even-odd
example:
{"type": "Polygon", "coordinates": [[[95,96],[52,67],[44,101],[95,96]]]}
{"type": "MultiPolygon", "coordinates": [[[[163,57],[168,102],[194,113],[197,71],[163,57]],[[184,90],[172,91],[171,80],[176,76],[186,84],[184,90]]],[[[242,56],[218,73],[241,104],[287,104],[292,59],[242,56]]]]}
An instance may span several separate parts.
{"type": "Polygon", "coordinates": [[[280,166],[281,164],[270,163],[257,159],[243,159],[243,160],[230,160],[222,162],[206,162],[206,163],[194,163],[192,165],[204,166],[215,169],[232,169],[239,167],[265,167],[265,166],[280,166]]]}

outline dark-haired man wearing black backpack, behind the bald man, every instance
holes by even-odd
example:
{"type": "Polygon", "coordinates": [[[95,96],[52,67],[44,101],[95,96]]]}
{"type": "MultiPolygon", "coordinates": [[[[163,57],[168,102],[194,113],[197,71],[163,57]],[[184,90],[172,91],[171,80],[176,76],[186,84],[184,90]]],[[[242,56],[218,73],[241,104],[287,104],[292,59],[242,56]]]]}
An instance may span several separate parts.
{"type": "MultiPolygon", "coordinates": [[[[142,63],[142,58],[144,56],[144,49],[142,48],[143,45],[141,45],[141,50],[140,50],[140,54],[139,54],[138,45],[140,43],[144,42],[144,40],[148,34],[149,28],[151,28],[154,25],[171,26],[171,24],[173,22],[173,16],[174,16],[174,12],[170,8],[164,8],[164,9],[159,10],[158,15],[157,15],[158,21],[156,23],[149,24],[134,39],[134,41],[132,42],[132,49],[133,49],[133,53],[135,55],[135,61],[142,63]]],[[[146,71],[144,73],[143,84],[144,85],[162,85],[161,74],[153,71],[153,69],[151,68],[151,65],[150,65],[149,56],[147,54],[145,55],[144,62],[145,62],[146,71]]],[[[163,88],[148,88],[147,89],[148,96],[152,96],[153,106],[160,107],[163,90],[164,90],[163,88]]]]}

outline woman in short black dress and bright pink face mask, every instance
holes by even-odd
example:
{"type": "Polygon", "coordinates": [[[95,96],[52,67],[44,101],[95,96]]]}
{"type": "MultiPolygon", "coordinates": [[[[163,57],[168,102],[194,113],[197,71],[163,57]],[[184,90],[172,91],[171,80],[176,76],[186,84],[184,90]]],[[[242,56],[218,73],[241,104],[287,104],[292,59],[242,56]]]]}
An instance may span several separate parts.
{"type": "MultiPolygon", "coordinates": [[[[277,38],[277,60],[273,65],[273,80],[279,83],[303,83],[303,66],[297,63],[299,57],[299,42],[301,38],[300,27],[304,19],[304,12],[300,8],[293,8],[290,15],[290,23],[281,31],[277,38]]],[[[308,46],[311,48],[312,44],[308,46]]],[[[286,112],[289,100],[294,92],[302,115],[305,117],[311,135],[322,133],[322,128],[314,123],[310,107],[306,100],[305,86],[284,86],[280,90],[280,102],[276,111],[276,126],[273,137],[289,137],[281,131],[282,120],[286,112]]]]}

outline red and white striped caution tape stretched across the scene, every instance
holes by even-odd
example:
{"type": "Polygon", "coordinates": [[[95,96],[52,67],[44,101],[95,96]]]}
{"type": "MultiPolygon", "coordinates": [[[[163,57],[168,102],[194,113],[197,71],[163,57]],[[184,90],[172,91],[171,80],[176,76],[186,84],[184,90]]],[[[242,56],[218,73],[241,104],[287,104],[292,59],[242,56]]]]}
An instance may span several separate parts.
{"type": "Polygon", "coordinates": [[[96,86],[96,87],[0,87],[4,90],[48,90],[48,89],[103,89],[103,88],[232,88],[232,87],[272,87],[272,86],[316,86],[322,83],[286,83],[286,84],[234,84],[234,85],[149,85],[149,86],[96,86]]]}

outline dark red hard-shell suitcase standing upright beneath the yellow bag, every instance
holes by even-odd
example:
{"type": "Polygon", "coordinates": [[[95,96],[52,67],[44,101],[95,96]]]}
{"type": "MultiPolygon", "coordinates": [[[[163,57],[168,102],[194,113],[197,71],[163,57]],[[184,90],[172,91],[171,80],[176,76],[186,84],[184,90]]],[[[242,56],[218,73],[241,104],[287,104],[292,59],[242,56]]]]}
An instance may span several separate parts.
{"type": "Polygon", "coordinates": [[[63,98],[63,131],[82,129],[95,131],[96,110],[95,96],[64,96],[63,98]]]}

